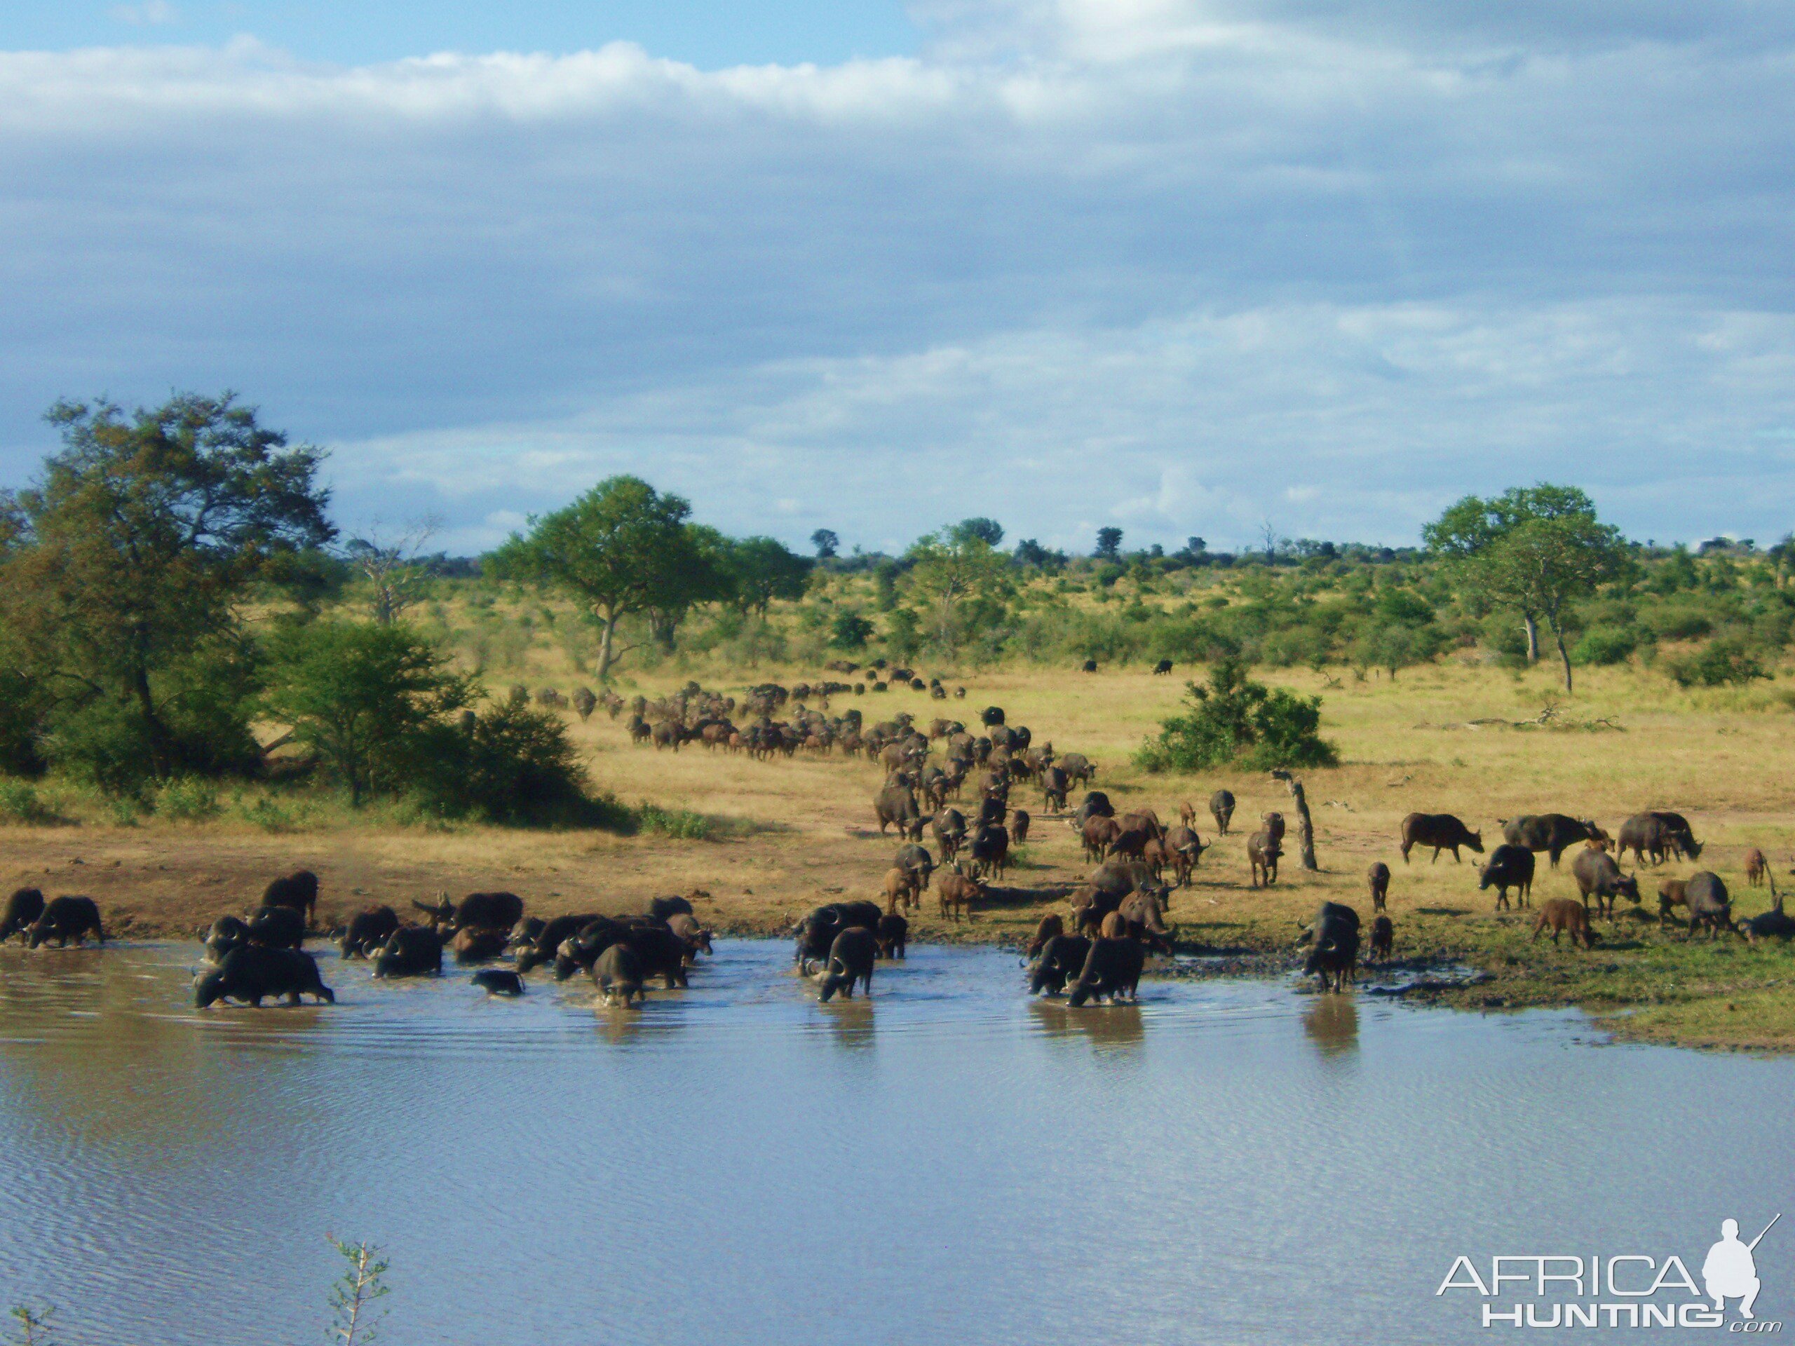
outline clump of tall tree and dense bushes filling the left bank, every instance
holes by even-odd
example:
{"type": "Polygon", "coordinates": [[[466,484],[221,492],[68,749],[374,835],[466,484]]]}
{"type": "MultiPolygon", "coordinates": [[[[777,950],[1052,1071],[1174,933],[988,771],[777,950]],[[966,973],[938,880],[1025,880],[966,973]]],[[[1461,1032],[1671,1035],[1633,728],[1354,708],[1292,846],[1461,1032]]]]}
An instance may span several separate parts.
{"type": "Polygon", "coordinates": [[[63,449],[0,495],[0,774],[180,800],[287,772],[499,822],[603,808],[555,716],[485,702],[390,605],[323,614],[316,449],[230,397],[50,418],[63,449]]]}

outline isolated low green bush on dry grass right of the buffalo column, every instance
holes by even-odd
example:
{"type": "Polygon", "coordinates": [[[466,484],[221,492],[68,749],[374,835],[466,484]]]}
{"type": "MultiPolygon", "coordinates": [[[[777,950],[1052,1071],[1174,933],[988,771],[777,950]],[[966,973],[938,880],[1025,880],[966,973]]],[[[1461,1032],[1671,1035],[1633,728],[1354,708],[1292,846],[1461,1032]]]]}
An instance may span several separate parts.
{"type": "Polygon", "coordinates": [[[1319,696],[1265,687],[1246,677],[1239,659],[1224,659],[1210,669],[1206,687],[1190,684],[1190,714],[1163,721],[1142,745],[1136,763],[1149,772],[1335,766],[1339,752],[1319,729],[1319,696]]]}

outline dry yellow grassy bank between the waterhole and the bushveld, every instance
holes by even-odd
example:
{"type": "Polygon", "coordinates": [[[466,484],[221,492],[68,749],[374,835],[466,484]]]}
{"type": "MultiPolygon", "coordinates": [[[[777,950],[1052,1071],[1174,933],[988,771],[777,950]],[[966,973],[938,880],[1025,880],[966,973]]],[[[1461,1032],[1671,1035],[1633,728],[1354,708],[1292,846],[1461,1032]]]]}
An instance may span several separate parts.
{"type": "MultiPolygon", "coordinates": [[[[761,666],[704,680],[740,691],[750,680],[804,675],[815,669],[761,666]]],[[[679,680],[644,677],[641,686],[659,693],[679,680]]],[[[1725,878],[1738,910],[1763,910],[1766,890],[1747,888],[1739,865],[1756,845],[1781,874],[1790,869],[1784,838],[1795,829],[1795,806],[1782,781],[1795,765],[1795,718],[1779,702],[1761,693],[1678,691],[1624,668],[1590,669],[1554,718],[1515,727],[1537,720],[1554,698],[1545,671],[1443,664],[1395,682],[1309,671],[1271,680],[1319,693],[1325,732],[1341,748],[1341,766],[1305,777],[1321,872],[1294,869],[1292,847],[1278,887],[1255,892],[1244,836],[1221,838],[1195,883],[1174,896],[1185,944],[1287,957],[1298,922],[1318,901],[1352,901],[1368,912],[1364,870],[1384,860],[1395,870],[1397,957],[1488,976],[1440,992],[1447,1003],[1581,1005],[1628,1037],[1795,1044],[1795,953],[1786,948],[1689,942],[1653,921],[1624,919],[1603,926],[1594,951],[1554,949],[1531,942],[1526,913],[1492,910],[1492,896],[1477,892],[1472,856],[1456,865],[1450,854],[1431,863],[1416,852],[1404,865],[1397,852],[1409,811],[1458,813],[1493,845],[1497,818],[1519,813],[1560,809],[1596,817],[1614,831],[1628,813],[1677,808],[1709,845],[1702,867],[1725,878]]],[[[950,682],[968,686],[966,700],[942,705],[892,691],[858,704],[869,720],[908,709],[924,721],[933,714],[973,720],[987,704],[1003,705],[1038,741],[1090,754],[1099,784],[1118,806],[1151,804],[1170,817],[1179,800],[1201,808],[1212,790],[1226,786],[1240,800],[1239,824],[1271,808],[1289,813],[1283,786],[1262,775],[1147,775],[1129,765],[1142,738],[1178,705],[1179,678],[964,669],[950,682]]],[[[853,700],[838,698],[833,709],[853,700]]],[[[0,883],[86,892],[113,926],[138,935],[185,935],[223,910],[241,910],[271,874],[300,865],[323,878],[332,917],[373,901],[404,906],[438,890],[504,887],[540,912],[612,910],[687,892],[700,894],[698,910],[716,928],[766,933],[815,903],[876,896],[896,838],[878,835],[871,799],[880,772],[865,759],[757,763],[700,747],[655,752],[632,748],[621,721],[603,714],[569,721],[594,782],[639,820],[634,835],[431,824],[393,808],[355,813],[330,795],[267,786],[224,791],[215,809],[124,818],[52,782],[39,795],[54,820],[0,826],[0,883]]],[[[1036,822],[998,901],[966,926],[924,910],[921,939],[1012,940],[1045,912],[1064,910],[1066,890],[1090,867],[1070,829],[1041,817],[1038,797],[1020,790],[1014,802],[1036,822]]],[[[1199,831],[1215,840],[1206,820],[1199,831]]],[[[1641,870],[1648,906],[1660,876],[1693,869],[1641,870]]],[[[1572,894],[1569,858],[1551,870],[1542,856],[1535,905],[1572,894]]]]}

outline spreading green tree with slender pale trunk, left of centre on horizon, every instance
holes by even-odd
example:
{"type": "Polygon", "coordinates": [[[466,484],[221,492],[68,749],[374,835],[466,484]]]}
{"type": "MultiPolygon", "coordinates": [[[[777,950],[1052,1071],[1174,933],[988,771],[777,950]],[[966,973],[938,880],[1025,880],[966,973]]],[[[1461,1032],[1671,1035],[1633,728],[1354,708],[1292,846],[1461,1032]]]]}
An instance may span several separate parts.
{"type": "Polygon", "coordinates": [[[531,515],[494,556],[501,576],[565,589],[600,628],[598,677],[635,646],[617,646],[628,616],[684,612],[714,594],[713,558],[686,526],[691,506],[641,477],[610,477],[573,504],[531,515]]]}

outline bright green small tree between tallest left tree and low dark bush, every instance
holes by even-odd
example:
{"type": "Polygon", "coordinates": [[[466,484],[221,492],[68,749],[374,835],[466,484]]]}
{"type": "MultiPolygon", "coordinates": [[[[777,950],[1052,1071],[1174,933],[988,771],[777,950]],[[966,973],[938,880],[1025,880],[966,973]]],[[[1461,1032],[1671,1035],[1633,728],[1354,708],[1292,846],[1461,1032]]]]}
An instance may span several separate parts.
{"type": "Polygon", "coordinates": [[[397,791],[418,734],[470,698],[467,682],[402,623],[293,625],[271,646],[267,714],[328,765],[352,808],[397,791]]]}

